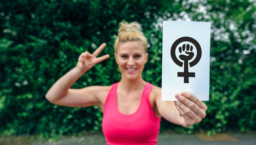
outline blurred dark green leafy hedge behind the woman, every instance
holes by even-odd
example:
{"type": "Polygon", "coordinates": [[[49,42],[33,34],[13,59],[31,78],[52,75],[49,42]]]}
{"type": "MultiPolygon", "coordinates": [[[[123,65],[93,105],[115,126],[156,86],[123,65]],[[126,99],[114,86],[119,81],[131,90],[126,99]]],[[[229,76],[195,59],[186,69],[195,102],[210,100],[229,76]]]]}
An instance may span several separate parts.
{"type": "Polygon", "coordinates": [[[0,134],[52,137],[101,131],[97,107],[49,103],[51,85],[76,65],[84,51],[111,58],[72,88],[120,80],[113,44],[118,23],[138,21],[148,38],[143,78],[161,86],[162,21],[211,22],[210,101],[200,124],[181,128],[162,119],[161,130],[210,133],[256,129],[255,1],[0,1],[0,134]]]}

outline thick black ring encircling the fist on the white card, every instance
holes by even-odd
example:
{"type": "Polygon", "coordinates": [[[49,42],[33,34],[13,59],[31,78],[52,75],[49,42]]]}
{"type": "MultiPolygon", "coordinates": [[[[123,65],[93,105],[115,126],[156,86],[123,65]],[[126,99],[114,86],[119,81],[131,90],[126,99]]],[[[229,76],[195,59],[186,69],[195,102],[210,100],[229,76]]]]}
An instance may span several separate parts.
{"type": "Polygon", "coordinates": [[[191,42],[193,43],[195,46],[196,46],[196,49],[197,49],[197,56],[196,58],[189,63],[189,66],[192,67],[192,66],[195,66],[201,59],[201,56],[202,56],[202,50],[201,50],[201,46],[200,44],[198,43],[198,41],[194,38],[191,38],[191,37],[180,37],[179,39],[177,39],[172,47],[170,48],[170,56],[172,57],[173,61],[179,65],[180,67],[182,67],[183,65],[183,62],[179,61],[178,58],[176,57],[175,55],[175,50],[176,50],[176,47],[181,43],[181,42],[184,42],[184,41],[188,41],[188,42],[191,42]]]}

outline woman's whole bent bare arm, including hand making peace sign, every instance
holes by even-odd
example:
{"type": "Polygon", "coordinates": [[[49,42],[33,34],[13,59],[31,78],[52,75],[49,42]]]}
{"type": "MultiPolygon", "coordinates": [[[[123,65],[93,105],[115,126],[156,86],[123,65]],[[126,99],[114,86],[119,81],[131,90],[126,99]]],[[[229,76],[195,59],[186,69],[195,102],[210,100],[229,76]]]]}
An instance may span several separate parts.
{"type": "Polygon", "coordinates": [[[82,53],[78,58],[76,67],[53,84],[46,94],[46,99],[53,104],[70,107],[98,105],[99,99],[97,96],[100,95],[100,92],[104,92],[104,89],[108,89],[107,87],[91,86],[83,89],[70,89],[70,87],[95,64],[110,57],[104,55],[96,58],[105,45],[105,43],[101,44],[93,54],[89,52],[82,53]]]}

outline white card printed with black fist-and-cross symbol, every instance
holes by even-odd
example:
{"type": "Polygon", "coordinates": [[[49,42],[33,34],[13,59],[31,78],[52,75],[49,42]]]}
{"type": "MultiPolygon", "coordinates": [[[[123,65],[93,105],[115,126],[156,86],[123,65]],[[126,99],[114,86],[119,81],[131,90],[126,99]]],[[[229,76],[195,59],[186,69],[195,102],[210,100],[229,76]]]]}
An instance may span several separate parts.
{"type": "Polygon", "coordinates": [[[162,100],[188,91],[209,101],[210,22],[163,21],[162,100]]]}

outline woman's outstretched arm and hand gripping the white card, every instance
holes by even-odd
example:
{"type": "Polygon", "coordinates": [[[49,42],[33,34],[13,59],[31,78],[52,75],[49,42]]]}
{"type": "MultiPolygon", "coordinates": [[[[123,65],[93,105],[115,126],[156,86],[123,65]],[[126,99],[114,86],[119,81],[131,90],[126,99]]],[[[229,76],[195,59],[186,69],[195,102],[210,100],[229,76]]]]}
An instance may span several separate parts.
{"type": "Polygon", "coordinates": [[[177,93],[179,101],[162,101],[161,95],[156,98],[156,104],[161,116],[169,122],[189,127],[200,123],[206,116],[207,106],[195,95],[189,92],[177,93]]]}

